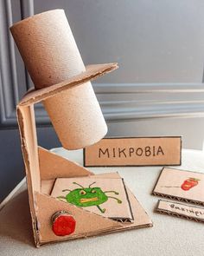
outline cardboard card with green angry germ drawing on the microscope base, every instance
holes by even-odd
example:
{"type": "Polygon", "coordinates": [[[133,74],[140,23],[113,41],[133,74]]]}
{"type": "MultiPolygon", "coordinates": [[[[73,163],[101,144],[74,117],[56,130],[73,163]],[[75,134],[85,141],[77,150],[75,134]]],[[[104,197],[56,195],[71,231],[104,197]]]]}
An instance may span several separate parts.
{"type": "Polygon", "coordinates": [[[122,178],[58,178],[51,196],[113,220],[133,220],[122,178]]]}

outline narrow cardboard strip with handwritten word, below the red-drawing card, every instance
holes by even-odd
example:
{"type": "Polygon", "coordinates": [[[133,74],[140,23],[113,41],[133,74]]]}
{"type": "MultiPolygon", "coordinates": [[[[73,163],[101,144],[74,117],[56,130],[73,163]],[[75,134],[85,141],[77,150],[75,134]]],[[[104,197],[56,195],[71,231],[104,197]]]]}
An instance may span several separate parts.
{"type": "Polygon", "coordinates": [[[156,212],[204,222],[203,207],[192,207],[187,204],[175,203],[169,200],[158,200],[156,212]]]}

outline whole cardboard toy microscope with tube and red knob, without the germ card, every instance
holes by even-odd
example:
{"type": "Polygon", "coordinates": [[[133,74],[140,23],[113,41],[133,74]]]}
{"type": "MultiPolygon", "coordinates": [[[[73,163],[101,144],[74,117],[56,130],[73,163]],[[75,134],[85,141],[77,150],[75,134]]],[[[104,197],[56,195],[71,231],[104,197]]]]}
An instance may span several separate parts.
{"type": "Polygon", "coordinates": [[[117,63],[85,67],[64,10],[31,16],[15,23],[10,31],[35,84],[16,108],[35,245],[151,226],[149,216],[127,187],[132,214],[127,222],[51,196],[56,179],[120,177],[94,175],[37,144],[34,104],[38,102],[46,108],[63,148],[85,148],[106,135],[105,119],[90,81],[117,69],[117,63]]]}

